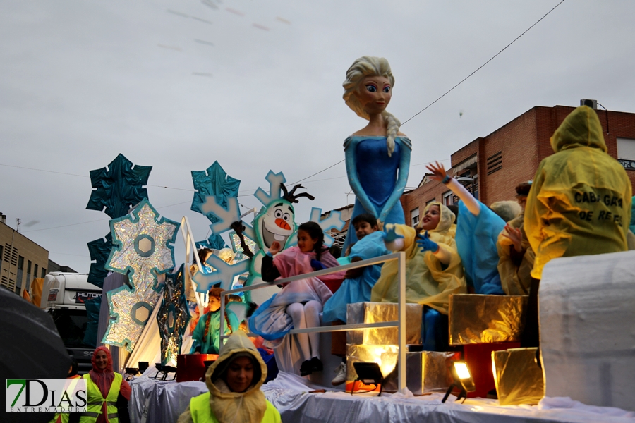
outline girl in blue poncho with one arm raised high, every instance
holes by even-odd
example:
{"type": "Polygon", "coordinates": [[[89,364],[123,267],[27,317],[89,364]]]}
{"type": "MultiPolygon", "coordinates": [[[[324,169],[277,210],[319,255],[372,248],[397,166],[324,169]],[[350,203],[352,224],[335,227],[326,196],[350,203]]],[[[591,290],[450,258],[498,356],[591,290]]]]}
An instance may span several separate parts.
{"type": "Polygon", "coordinates": [[[456,225],[456,248],[465,268],[468,286],[477,294],[504,294],[498,274],[496,242],[505,222],[445,173],[442,164],[437,162],[427,167],[433,173],[431,179],[444,183],[461,199],[461,219],[456,225]]]}

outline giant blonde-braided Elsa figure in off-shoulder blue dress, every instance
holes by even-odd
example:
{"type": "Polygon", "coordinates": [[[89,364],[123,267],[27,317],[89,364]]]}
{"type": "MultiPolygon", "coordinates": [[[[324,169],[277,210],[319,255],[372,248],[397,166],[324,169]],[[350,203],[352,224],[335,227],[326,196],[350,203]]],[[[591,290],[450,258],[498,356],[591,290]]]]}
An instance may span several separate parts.
{"type": "MultiPolygon", "coordinates": [[[[406,188],[412,145],[399,132],[399,120],[386,111],[394,85],[390,65],[382,57],[363,56],[346,71],[342,85],[346,104],[368,120],[344,142],[346,173],[356,196],[351,221],[370,213],[381,223],[404,223],[399,197],[406,188]]],[[[349,229],[342,250],[356,242],[349,229]]]]}

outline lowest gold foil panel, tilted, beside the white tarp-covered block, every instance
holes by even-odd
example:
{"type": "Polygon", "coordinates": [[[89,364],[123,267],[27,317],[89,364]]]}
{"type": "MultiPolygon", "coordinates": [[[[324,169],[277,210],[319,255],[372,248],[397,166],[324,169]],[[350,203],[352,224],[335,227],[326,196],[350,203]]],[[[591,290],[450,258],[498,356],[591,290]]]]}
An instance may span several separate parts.
{"type": "Polygon", "coordinates": [[[538,404],[543,398],[543,370],[536,364],[538,348],[492,351],[492,370],[500,405],[538,404]]]}

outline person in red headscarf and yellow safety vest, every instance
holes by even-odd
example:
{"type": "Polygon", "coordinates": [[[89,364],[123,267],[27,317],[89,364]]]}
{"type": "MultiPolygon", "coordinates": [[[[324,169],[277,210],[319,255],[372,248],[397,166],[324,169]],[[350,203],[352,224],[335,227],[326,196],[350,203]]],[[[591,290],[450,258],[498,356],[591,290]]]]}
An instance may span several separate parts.
{"type": "Polygon", "coordinates": [[[85,374],[86,411],[71,413],[69,423],[129,423],[131,388],[112,370],[112,355],[106,347],[92,354],[92,370],[85,374]]]}

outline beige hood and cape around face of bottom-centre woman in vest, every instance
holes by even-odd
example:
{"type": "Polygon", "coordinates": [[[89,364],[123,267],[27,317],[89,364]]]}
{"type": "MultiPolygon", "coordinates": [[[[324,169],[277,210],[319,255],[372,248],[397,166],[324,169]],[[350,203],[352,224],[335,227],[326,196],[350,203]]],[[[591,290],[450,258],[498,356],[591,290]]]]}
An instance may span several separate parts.
{"type": "MultiPolygon", "coordinates": [[[[256,370],[256,369],[255,369],[256,370]]],[[[247,336],[237,331],[226,339],[220,350],[218,360],[205,372],[205,384],[210,390],[210,407],[219,422],[253,422],[262,420],[267,408],[265,394],[260,386],[267,379],[267,365],[262,361],[260,353],[247,336]],[[245,392],[231,392],[221,379],[222,373],[229,367],[235,357],[250,357],[255,365],[260,366],[260,372],[254,371],[254,379],[250,388],[245,392]]]]}

